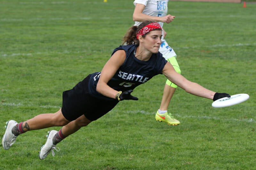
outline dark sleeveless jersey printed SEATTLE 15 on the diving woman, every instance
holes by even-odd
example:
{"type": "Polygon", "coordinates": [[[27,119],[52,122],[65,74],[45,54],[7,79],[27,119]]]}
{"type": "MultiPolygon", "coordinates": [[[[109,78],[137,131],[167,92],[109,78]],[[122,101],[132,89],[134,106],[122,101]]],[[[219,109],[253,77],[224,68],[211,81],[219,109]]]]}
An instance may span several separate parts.
{"type": "MultiPolygon", "coordinates": [[[[152,77],[157,74],[162,74],[166,60],[163,55],[158,52],[152,54],[148,61],[141,61],[137,59],[134,55],[134,50],[138,45],[124,45],[116,48],[112,55],[117,50],[124,50],[126,53],[126,59],[121,67],[117,70],[115,75],[109,80],[108,85],[117,91],[127,91],[134,89],[138,85],[146,83],[152,77]]],[[[112,56],[111,55],[111,56],[112,56]]],[[[100,78],[101,72],[95,72],[91,75],[89,80],[89,92],[92,96],[105,99],[105,100],[115,100],[106,97],[96,91],[96,86],[100,78]]]]}

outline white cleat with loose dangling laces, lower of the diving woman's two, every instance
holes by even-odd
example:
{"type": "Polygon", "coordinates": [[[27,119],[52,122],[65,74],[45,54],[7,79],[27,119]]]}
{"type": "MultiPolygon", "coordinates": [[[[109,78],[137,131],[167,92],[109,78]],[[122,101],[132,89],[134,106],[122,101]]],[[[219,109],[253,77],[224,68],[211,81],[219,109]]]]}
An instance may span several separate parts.
{"type": "Polygon", "coordinates": [[[60,148],[55,147],[56,145],[54,145],[52,143],[52,139],[55,136],[55,134],[58,133],[57,130],[51,130],[48,132],[47,135],[47,140],[46,143],[40,148],[40,152],[39,152],[39,159],[43,160],[44,158],[47,157],[47,155],[50,153],[50,151],[52,150],[52,156],[54,156],[54,151],[53,149],[55,149],[56,151],[60,151],[60,148]]]}

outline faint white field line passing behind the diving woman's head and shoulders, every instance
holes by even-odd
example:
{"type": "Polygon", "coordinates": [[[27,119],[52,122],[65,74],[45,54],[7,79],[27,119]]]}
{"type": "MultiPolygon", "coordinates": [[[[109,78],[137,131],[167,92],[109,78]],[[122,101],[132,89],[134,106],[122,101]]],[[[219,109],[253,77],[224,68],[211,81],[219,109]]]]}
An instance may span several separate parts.
{"type": "MultiPolygon", "coordinates": [[[[251,45],[256,45],[256,43],[238,43],[238,44],[216,44],[216,45],[211,45],[211,46],[204,46],[214,48],[214,47],[234,47],[234,46],[251,46],[251,45]]],[[[181,48],[198,48],[202,46],[190,46],[190,47],[181,47],[181,48]]],[[[175,49],[181,49],[181,48],[175,48],[175,49]]],[[[12,53],[12,54],[1,54],[0,56],[2,57],[8,57],[8,56],[28,56],[28,55],[50,55],[50,54],[69,54],[69,53],[84,53],[86,52],[85,50],[83,51],[63,51],[63,52],[36,52],[36,53],[12,53]]]]}

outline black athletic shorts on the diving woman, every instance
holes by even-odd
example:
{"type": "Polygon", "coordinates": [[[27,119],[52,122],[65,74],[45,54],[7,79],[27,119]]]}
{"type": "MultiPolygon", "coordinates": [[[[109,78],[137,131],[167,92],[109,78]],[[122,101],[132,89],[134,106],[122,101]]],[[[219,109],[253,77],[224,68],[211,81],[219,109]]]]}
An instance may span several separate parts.
{"type": "Polygon", "coordinates": [[[91,96],[88,89],[90,77],[91,74],[73,89],[63,92],[61,112],[67,120],[73,121],[85,115],[87,119],[94,121],[108,113],[118,103],[117,100],[108,101],[91,96]]]}

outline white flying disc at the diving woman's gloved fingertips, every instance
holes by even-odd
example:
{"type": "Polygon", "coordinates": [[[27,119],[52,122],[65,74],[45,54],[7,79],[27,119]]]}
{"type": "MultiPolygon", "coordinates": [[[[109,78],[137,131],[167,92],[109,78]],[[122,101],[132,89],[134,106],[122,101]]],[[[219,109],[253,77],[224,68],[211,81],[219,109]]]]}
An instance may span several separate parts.
{"type": "Polygon", "coordinates": [[[242,103],[245,100],[249,99],[249,95],[248,94],[235,94],[232,95],[231,97],[223,97],[221,99],[215,100],[212,103],[212,107],[228,107],[228,106],[232,106],[232,105],[236,105],[238,103],[242,103]]]}

